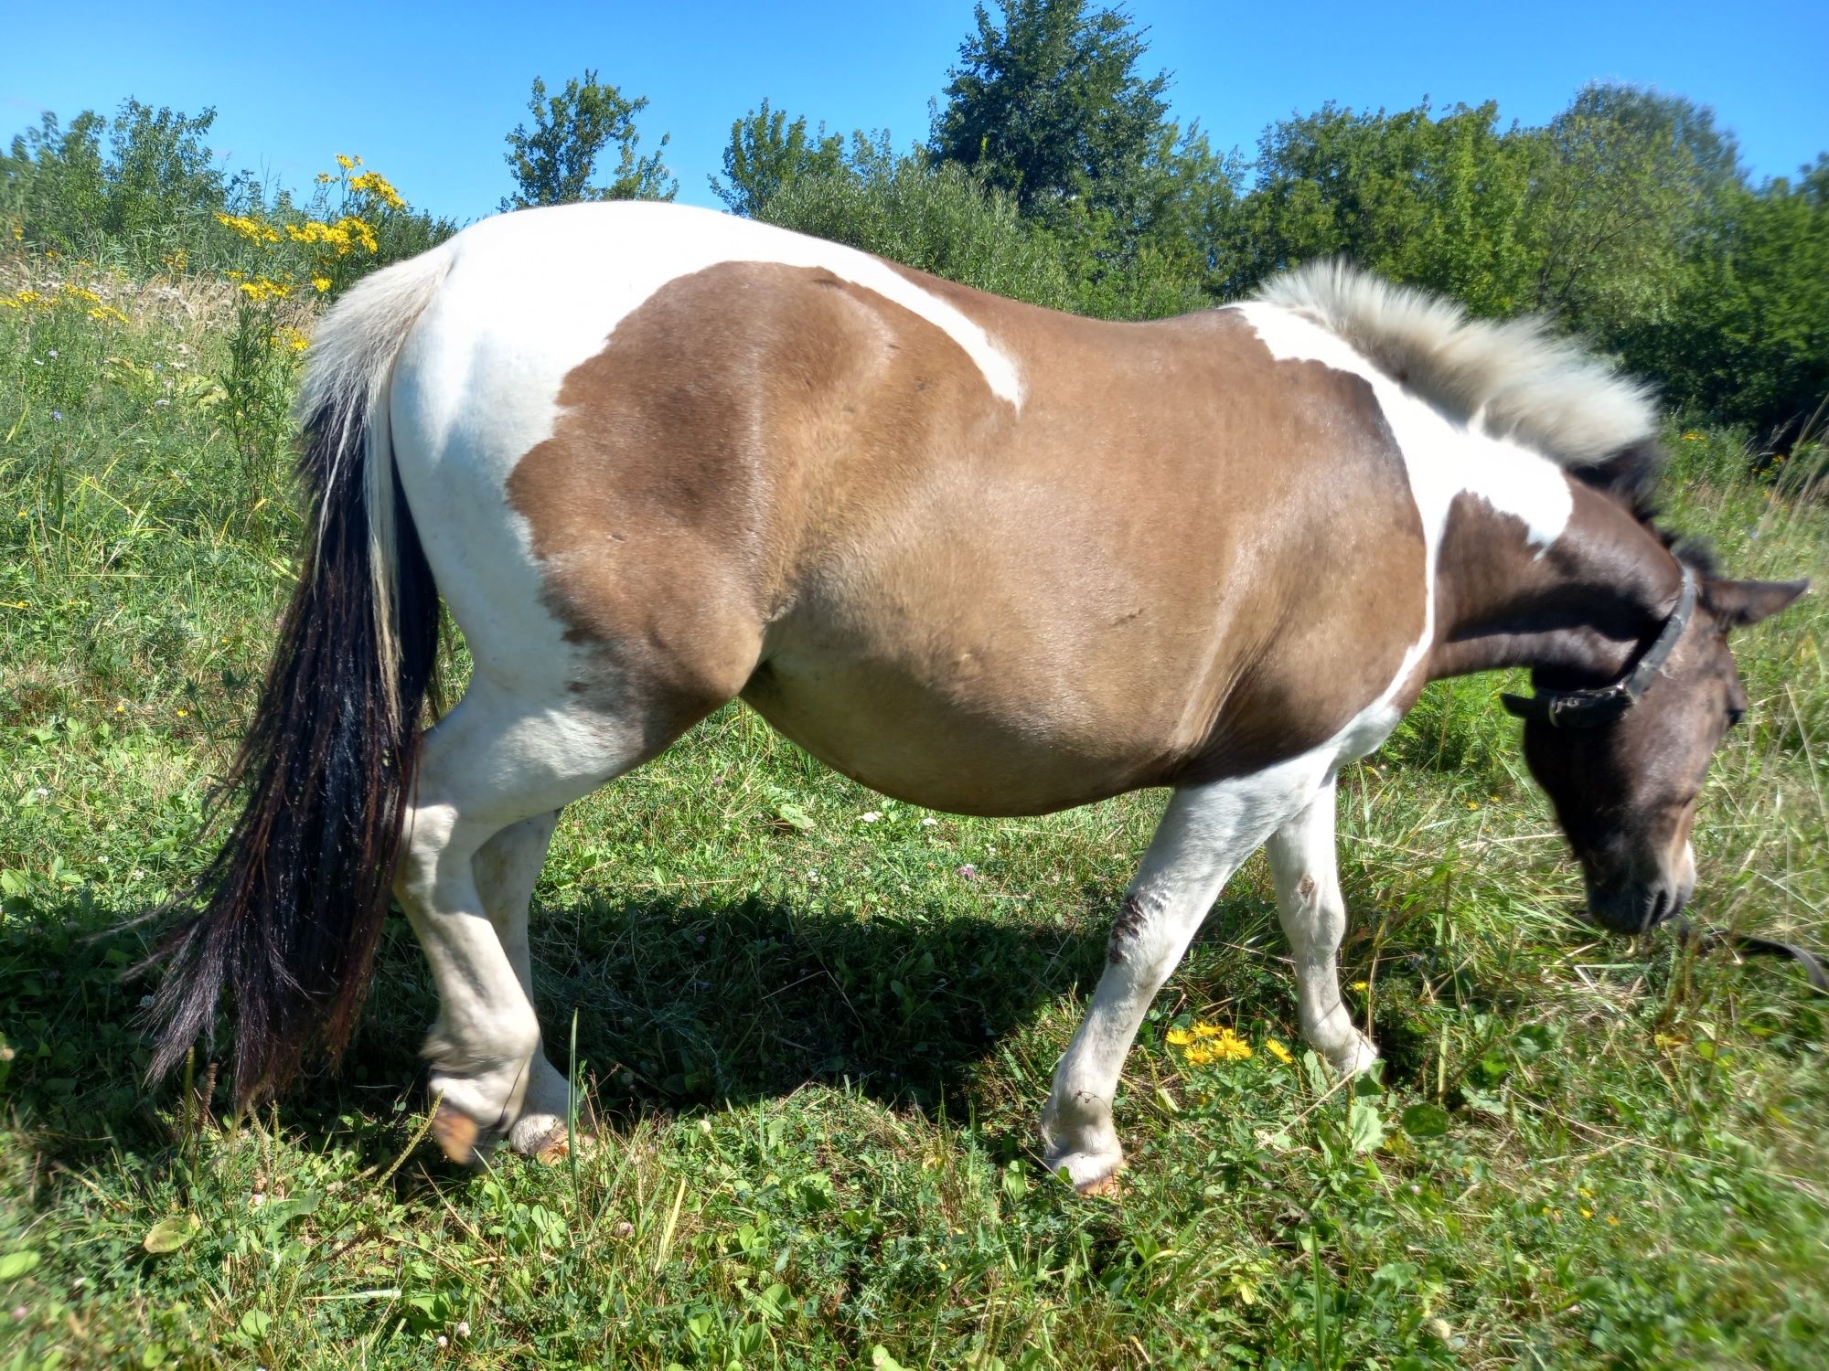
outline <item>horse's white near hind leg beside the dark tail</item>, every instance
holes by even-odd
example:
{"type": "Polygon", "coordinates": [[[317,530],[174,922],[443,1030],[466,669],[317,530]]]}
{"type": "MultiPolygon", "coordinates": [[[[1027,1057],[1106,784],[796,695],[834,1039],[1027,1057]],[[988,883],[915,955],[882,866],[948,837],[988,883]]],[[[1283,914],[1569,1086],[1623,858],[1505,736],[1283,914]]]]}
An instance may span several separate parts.
{"type": "MultiPolygon", "coordinates": [[[[424,1053],[432,1093],[444,1100],[435,1133],[459,1161],[479,1133],[514,1124],[540,1047],[521,978],[525,901],[510,949],[490,919],[476,859],[505,828],[589,793],[642,755],[627,729],[602,717],[541,707],[481,680],[426,737],[395,890],[439,989],[424,1053]]],[[[497,872],[487,874],[494,885],[497,872]]],[[[514,876],[519,883],[519,866],[514,876]]]]}

